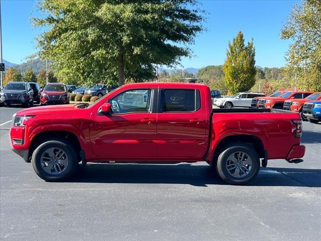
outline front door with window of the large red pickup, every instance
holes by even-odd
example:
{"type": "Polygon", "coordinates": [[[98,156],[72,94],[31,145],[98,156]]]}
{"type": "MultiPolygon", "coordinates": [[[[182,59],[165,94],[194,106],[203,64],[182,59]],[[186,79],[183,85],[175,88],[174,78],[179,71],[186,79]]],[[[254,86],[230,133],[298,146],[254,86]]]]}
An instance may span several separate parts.
{"type": "Polygon", "coordinates": [[[156,113],[151,111],[153,89],[130,89],[108,102],[113,113],[93,113],[90,139],[93,153],[108,159],[155,158],[156,113]]]}

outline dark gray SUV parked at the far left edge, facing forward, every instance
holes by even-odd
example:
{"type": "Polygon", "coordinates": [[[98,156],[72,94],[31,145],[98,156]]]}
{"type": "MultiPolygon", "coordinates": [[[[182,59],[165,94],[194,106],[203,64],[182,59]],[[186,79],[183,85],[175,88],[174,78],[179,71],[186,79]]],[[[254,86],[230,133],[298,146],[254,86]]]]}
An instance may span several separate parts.
{"type": "Polygon", "coordinates": [[[10,81],[0,91],[0,104],[22,104],[25,107],[34,104],[34,91],[28,82],[10,81]]]}

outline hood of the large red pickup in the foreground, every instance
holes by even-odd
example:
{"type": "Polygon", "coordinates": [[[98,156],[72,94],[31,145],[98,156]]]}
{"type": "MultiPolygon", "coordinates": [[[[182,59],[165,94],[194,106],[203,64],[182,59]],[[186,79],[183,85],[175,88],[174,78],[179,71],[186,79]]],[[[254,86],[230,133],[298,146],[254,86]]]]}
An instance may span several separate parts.
{"type": "Polygon", "coordinates": [[[71,114],[79,110],[77,105],[79,104],[37,106],[20,110],[16,113],[16,115],[71,114]]]}

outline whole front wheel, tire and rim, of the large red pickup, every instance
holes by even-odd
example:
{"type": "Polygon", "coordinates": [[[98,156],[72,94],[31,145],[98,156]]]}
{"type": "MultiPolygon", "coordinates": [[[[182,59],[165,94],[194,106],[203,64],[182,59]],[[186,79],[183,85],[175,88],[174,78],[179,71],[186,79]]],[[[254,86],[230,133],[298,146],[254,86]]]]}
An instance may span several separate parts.
{"type": "Polygon", "coordinates": [[[77,170],[78,160],[73,145],[64,139],[50,139],[36,148],[32,165],[46,181],[62,181],[77,170]]]}

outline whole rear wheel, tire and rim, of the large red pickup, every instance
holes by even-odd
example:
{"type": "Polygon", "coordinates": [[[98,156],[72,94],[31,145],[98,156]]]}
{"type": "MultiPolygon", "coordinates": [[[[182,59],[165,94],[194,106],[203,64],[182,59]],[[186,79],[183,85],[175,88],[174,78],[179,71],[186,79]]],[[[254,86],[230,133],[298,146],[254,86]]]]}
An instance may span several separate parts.
{"type": "Polygon", "coordinates": [[[260,170],[260,159],[250,146],[235,143],[227,146],[219,155],[216,168],[225,182],[242,185],[256,177],[260,170]]]}

